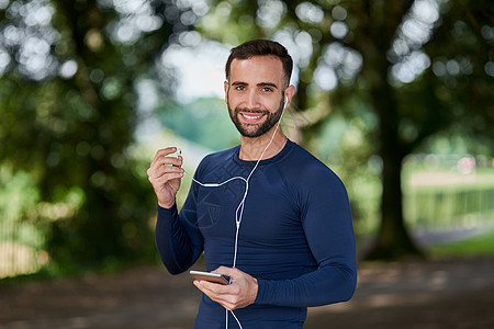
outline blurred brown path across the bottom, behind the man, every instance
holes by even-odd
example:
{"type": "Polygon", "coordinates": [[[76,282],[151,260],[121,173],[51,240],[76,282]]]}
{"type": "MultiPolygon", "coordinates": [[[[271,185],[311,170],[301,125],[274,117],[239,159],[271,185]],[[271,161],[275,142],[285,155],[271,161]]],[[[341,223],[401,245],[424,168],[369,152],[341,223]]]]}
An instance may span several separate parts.
{"type": "MultiPolygon", "coordinates": [[[[191,328],[191,281],[153,266],[0,285],[0,328],[191,328]]],[[[311,308],[305,328],[494,328],[493,310],[494,258],[363,263],[355,297],[311,308]]]]}

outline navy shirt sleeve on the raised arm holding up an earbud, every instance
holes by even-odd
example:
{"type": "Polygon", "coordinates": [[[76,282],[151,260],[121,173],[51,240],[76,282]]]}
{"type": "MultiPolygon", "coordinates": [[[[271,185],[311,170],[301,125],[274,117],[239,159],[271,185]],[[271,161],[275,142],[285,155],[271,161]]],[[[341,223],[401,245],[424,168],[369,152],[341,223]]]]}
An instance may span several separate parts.
{"type": "Polygon", "coordinates": [[[204,239],[197,226],[193,188],[180,214],[176,204],[171,208],[158,205],[155,240],[162,263],[171,274],[182,273],[195,263],[204,249],[204,239]]]}

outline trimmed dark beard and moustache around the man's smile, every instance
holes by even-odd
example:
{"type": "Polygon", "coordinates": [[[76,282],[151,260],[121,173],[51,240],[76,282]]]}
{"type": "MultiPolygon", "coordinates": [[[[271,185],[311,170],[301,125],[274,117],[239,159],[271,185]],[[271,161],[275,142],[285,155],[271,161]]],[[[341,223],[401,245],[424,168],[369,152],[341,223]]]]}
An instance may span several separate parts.
{"type": "Polygon", "coordinates": [[[262,136],[263,134],[268,133],[280,121],[284,107],[283,99],[284,98],[281,99],[280,106],[273,113],[269,112],[268,110],[248,110],[246,107],[235,107],[235,110],[233,110],[228,103],[229,117],[232,118],[232,122],[235,124],[235,127],[237,128],[238,133],[240,133],[242,136],[250,138],[262,136]],[[265,114],[266,120],[263,123],[260,124],[242,123],[240,120],[238,118],[240,112],[251,114],[265,114]]]}

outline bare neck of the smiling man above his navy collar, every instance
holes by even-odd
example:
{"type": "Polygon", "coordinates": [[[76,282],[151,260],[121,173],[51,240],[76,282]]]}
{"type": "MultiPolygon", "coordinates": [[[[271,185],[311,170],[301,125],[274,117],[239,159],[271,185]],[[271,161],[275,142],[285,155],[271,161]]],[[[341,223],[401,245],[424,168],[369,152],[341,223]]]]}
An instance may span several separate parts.
{"type": "Polygon", "coordinates": [[[270,131],[262,136],[255,138],[240,136],[240,151],[238,154],[240,160],[256,161],[259,160],[261,156],[262,159],[269,159],[278,155],[287,144],[287,136],[281,131],[281,127],[278,128],[274,137],[272,138],[272,143],[266,149],[271,140],[272,133],[273,132],[270,131]],[[262,155],[263,151],[265,154],[262,155]]]}

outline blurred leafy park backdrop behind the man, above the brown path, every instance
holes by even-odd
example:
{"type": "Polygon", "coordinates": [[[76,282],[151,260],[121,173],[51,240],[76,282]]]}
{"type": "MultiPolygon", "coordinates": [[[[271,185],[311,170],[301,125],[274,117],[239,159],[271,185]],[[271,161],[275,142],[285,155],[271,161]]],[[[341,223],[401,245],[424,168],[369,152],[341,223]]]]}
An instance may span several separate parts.
{"type": "Polygon", "coordinates": [[[345,182],[360,262],[494,254],[492,1],[0,0],[0,282],[159,264],[146,170],[239,143],[251,38],[295,61],[282,126],[345,182]]]}

